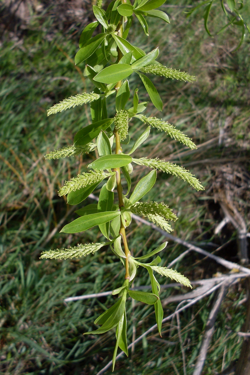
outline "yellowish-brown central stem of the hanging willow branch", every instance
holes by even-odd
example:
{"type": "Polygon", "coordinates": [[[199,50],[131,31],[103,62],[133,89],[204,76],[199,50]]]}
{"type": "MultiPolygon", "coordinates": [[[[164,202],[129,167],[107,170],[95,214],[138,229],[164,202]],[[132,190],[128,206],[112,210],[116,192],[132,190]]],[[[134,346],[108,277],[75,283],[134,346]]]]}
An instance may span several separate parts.
{"type": "MultiPolygon", "coordinates": [[[[124,1],[123,1],[124,2],[124,1]]],[[[126,0],[125,0],[126,2],[126,0]]],[[[122,37],[123,36],[123,26],[122,26],[122,21],[120,21],[120,23],[118,24],[118,27],[117,27],[117,35],[122,37]]],[[[117,56],[117,62],[119,62],[121,60],[121,57],[122,57],[122,53],[120,51],[120,48],[117,47],[117,53],[118,53],[118,56],[117,56]]],[[[115,85],[115,90],[118,91],[121,87],[121,81],[117,82],[117,84],[115,85]]],[[[117,132],[117,129],[114,128],[114,135],[115,135],[115,153],[116,154],[120,154],[121,151],[122,151],[122,148],[121,148],[121,143],[120,143],[120,135],[119,133],[117,132]]],[[[119,208],[121,209],[121,207],[124,206],[124,203],[123,203],[123,187],[121,186],[121,172],[120,172],[120,168],[115,168],[114,171],[116,172],[116,183],[117,183],[117,193],[118,193],[118,199],[119,199],[119,208]]],[[[130,257],[130,251],[129,251],[129,248],[127,246],[127,239],[126,239],[126,232],[125,232],[125,227],[122,223],[122,220],[121,220],[121,226],[120,226],[120,231],[119,231],[120,235],[121,235],[121,238],[123,239],[123,245],[124,245],[124,252],[125,252],[125,255],[126,255],[126,261],[125,261],[125,279],[126,280],[130,280],[130,276],[129,276],[129,257],[130,257]]]]}

